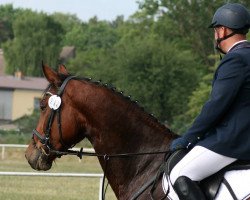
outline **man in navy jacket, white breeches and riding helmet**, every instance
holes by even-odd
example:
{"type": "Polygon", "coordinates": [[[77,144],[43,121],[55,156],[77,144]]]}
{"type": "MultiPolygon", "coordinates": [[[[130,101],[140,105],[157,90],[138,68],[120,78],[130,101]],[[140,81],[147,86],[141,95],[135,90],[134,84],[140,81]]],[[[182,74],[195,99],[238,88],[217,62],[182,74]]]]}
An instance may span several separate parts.
{"type": "Polygon", "coordinates": [[[197,181],[238,159],[250,160],[250,28],[249,11],[228,3],[214,14],[216,48],[226,54],[212,83],[209,100],[191,128],[170,146],[193,147],[173,168],[170,180],[179,198],[203,200],[197,181]]]}

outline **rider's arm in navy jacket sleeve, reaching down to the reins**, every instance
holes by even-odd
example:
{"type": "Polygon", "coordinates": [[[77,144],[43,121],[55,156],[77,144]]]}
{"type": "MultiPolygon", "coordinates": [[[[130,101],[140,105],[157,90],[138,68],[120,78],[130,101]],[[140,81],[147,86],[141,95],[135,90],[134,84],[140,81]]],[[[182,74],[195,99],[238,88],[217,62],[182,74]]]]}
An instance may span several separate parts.
{"type": "Polygon", "coordinates": [[[223,58],[215,74],[210,99],[183,135],[188,142],[195,143],[222,121],[241,89],[246,68],[239,54],[230,53],[223,58]]]}

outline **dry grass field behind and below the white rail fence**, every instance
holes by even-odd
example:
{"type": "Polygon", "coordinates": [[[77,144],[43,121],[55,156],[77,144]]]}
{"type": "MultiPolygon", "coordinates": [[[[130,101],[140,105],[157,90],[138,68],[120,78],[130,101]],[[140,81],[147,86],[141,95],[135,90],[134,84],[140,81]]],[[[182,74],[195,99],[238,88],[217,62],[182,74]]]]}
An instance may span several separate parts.
{"type": "MultiPolygon", "coordinates": [[[[0,148],[0,151],[2,149],[0,148]]],[[[0,158],[0,171],[36,172],[24,157],[25,148],[6,148],[0,158]]],[[[57,159],[48,172],[102,173],[98,160],[74,156],[57,159]]],[[[99,178],[0,176],[0,200],[95,200],[99,195],[99,178]]],[[[106,199],[116,199],[109,187],[106,199]]]]}

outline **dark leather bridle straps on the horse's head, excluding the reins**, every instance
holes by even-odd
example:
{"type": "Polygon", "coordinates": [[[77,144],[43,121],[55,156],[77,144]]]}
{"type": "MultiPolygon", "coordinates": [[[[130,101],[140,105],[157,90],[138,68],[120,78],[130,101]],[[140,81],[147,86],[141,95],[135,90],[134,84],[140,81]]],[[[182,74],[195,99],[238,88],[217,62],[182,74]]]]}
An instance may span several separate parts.
{"type": "MultiPolygon", "coordinates": [[[[63,81],[63,83],[62,83],[61,87],[59,88],[59,90],[58,90],[58,92],[57,92],[56,95],[52,95],[51,93],[48,93],[48,94],[52,95],[51,97],[54,96],[55,98],[61,100],[63,91],[64,91],[67,83],[71,79],[74,79],[74,78],[75,78],[75,76],[69,76],[69,77],[67,77],[63,81]]],[[[49,119],[48,119],[48,122],[47,122],[47,125],[46,125],[45,135],[39,133],[36,129],[34,129],[32,131],[33,138],[34,138],[34,136],[37,136],[37,138],[39,139],[39,141],[49,150],[49,153],[53,152],[53,151],[57,152],[57,151],[55,151],[53,149],[53,146],[52,146],[51,141],[50,141],[51,127],[52,127],[52,123],[53,123],[54,118],[55,118],[56,115],[57,115],[57,127],[58,127],[59,135],[60,135],[60,143],[62,144],[62,146],[63,146],[63,148],[65,150],[67,150],[67,149],[69,149],[69,148],[72,147],[72,146],[66,145],[66,143],[64,142],[63,137],[62,137],[62,129],[61,129],[61,106],[60,106],[60,104],[58,104],[58,106],[51,108],[49,119]]],[[[56,154],[56,156],[60,157],[60,155],[58,155],[58,154],[56,154]]]]}

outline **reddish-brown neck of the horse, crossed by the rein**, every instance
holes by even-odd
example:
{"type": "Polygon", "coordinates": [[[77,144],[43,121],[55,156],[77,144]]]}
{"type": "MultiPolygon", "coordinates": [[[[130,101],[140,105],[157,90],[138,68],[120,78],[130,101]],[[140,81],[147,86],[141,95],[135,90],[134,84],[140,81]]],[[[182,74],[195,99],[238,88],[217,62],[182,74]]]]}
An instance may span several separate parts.
{"type": "MultiPolygon", "coordinates": [[[[83,105],[88,127],[87,136],[100,154],[143,153],[166,151],[171,134],[135,103],[106,88],[92,85],[84,92],[83,105]],[[98,90],[98,91],[95,91],[98,90]],[[95,92],[94,92],[95,91],[95,92]]],[[[154,175],[164,155],[144,155],[127,158],[100,158],[103,170],[117,196],[134,190],[133,183],[143,184],[154,175]],[[145,174],[147,177],[145,180],[145,174]],[[144,175],[144,176],[143,176],[144,175]]]]}

